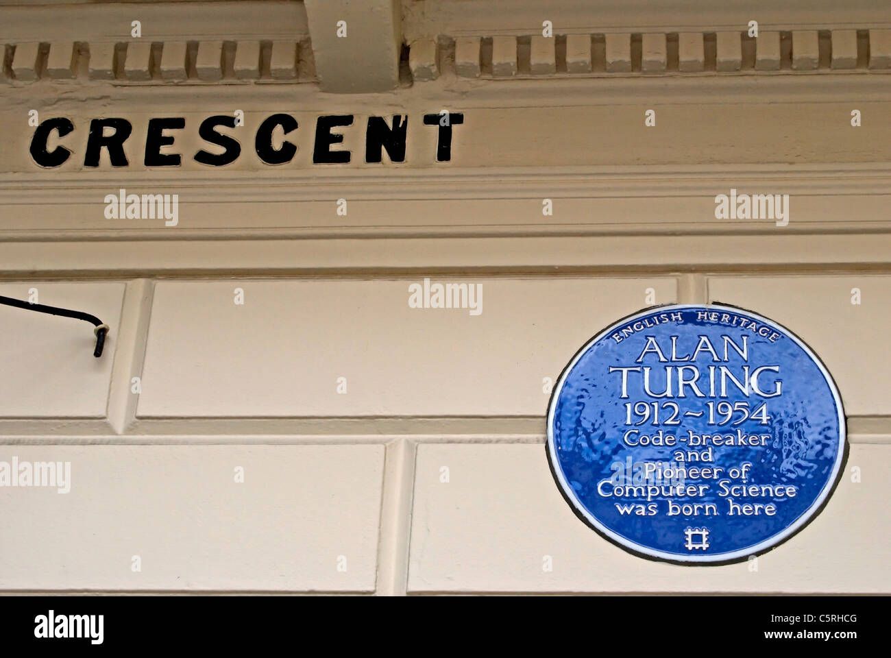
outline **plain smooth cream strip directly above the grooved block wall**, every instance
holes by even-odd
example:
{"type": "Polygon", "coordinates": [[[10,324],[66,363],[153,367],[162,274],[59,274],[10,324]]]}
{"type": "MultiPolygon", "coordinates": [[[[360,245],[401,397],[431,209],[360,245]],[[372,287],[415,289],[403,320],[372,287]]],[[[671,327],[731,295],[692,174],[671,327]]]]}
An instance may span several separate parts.
{"type": "Polygon", "coordinates": [[[0,241],[0,278],[406,273],[887,275],[891,234],[588,235],[304,240],[0,241]],[[695,247],[694,247],[695,245],[695,247]],[[695,252],[691,251],[695,248],[695,252]]]}

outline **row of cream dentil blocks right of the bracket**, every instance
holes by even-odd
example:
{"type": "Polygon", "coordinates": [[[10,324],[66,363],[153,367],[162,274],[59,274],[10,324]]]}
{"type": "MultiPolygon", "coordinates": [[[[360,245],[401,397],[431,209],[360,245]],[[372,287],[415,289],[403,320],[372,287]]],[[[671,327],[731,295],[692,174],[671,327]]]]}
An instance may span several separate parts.
{"type": "Polygon", "coordinates": [[[483,79],[891,70],[891,29],[428,37],[408,48],[415,82],[437,77],[431,62],[437,75],[483,79]]]}

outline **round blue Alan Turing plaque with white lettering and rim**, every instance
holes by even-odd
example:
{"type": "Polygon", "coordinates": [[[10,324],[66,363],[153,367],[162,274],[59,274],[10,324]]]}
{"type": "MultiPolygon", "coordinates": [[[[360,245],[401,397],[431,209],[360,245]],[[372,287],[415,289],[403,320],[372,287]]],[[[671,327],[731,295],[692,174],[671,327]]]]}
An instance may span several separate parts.
{"type": "Polygon", "coordinates": [[[747,310],[653,307],[598,333],[560,374],[547,453],[576,515],[673,563],[764,553],[813,519],[846,458],[821,360],[747,310]]]}

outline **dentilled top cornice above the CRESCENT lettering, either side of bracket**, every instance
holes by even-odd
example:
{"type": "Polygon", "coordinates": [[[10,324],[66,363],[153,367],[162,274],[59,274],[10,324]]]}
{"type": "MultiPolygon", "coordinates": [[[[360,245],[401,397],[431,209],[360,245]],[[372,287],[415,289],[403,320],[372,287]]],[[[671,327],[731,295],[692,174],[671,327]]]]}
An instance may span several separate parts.
{"type": "MultiPolygon", "coordinates": [[[[359,14],[354,7],[350,15],[357,36],[342,45],[340,39],[332,41],[327,31],[331,17],[349,7],[346,0],[329,2],[331,11],[315,26],[317,47],[328,58],[326,88],[364,88],[359,83],[374,72],[369,58],[384,39],[374,29],[363,32],[355,25],[359,14]],[[352,53],[354,59],[340,62],[332,52],[352,53]]],[[[871,0],[848,0],[843,6],[836,0],[801,6],[775,0],[379,2],[381,11],[400,4],[401,20],[391,31],[396,43],[403,43],[401,86],[440,76],[487,80],[891,70],[891,12],[871,0]]],[[[12,86],[87,80],[152,86],[316,83],[311,31],[307,8],[297,1],[4,3],[0,81],[12,86]],[[131,30],[134,21],[139,21],[139,35],[131,30]]],[[[389,86],[396,83],[392,75],[384,78],[389,86]]],[[[388,85],[366,86],[383,90],[388,85]]]]}

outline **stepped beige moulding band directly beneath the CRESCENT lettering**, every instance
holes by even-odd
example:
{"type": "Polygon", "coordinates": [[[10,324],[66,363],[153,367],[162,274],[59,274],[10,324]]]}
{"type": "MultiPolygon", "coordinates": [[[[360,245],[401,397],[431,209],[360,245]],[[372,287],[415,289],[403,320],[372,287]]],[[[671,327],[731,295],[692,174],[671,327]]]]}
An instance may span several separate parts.
{"type": "Polygon", "coordinates": [[[0,240],[891,234],[888,189],[891,164],[19,174],[0,177],[0,240]],[[179,226],[105,218],[103,199],[119,187],[178,194],[179,226]],[[715,195],[731,189],[788,194],[789,226],[716,219],[715,195]]]}

